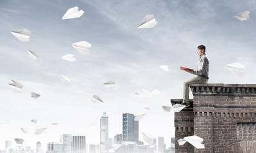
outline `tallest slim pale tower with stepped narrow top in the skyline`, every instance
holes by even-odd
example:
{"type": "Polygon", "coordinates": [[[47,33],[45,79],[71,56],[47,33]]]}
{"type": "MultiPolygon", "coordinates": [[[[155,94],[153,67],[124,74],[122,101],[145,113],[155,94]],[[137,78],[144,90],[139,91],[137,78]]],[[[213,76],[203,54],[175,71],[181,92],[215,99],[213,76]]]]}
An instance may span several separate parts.
{"type": "Polygon", "coordinates": [[[105,151],[108,142],[108,116],[104,112],[100,119],[100,151],[105,151]]]}

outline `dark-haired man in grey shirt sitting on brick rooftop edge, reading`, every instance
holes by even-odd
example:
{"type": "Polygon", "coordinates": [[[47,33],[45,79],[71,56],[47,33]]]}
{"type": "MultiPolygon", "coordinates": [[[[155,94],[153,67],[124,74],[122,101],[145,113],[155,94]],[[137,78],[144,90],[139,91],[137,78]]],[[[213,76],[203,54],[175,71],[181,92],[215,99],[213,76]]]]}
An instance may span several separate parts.
{"type": "Polygon", "coordinates": [[[207,84],[209,79],[209,60],[205,54],[205,46],[200,45],[197,47],[197,54],[199,55],[199,61],[197,62],[197,70],[191,71],[189,69],[185,69],[188,73],[197,75],[195,78],[191,78],[189,80],[186,80],[183,83],[183,101],[182,105],[186,105],[186,107],[189,107],[189,85],[190,84],[198,84],[203,83],[207,84]]]}

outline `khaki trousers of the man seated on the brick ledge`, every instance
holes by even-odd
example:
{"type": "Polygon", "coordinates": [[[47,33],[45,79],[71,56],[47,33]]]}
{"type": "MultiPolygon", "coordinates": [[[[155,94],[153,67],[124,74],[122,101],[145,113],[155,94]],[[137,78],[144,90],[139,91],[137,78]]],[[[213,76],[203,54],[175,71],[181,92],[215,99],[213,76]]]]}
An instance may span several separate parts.
{"type": "Polygon", "coordinates": [[[183,103],[189,103],[189,85],[190,84],[207,84],[207,78],[197,76],[190,78],[183,83],[183,103]]]}

